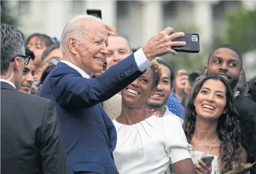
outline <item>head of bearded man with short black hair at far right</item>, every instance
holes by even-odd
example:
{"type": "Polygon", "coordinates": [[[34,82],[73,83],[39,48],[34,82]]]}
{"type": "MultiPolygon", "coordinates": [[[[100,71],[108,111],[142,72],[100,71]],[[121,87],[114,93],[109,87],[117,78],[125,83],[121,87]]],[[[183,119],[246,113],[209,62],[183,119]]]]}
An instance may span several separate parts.
{"type": "Polygon", "coordinates": [[[242,78],[241,60],[231,49],[217,49],[212,53],[204,74],[223,77],[233,90],[242,78]]]}

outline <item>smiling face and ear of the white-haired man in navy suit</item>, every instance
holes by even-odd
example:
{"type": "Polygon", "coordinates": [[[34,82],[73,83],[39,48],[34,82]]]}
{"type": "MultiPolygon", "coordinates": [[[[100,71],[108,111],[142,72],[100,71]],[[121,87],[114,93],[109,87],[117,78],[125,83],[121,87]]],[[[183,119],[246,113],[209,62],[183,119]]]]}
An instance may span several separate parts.
{"type": "Polygon", "coordinates": [[[105,25],[95,19],[83,19],[80,22],[83,25],[83,40],[67,39],[76,64],[92,76],[101,72],[106,62],[108,32],[105,25]]]}

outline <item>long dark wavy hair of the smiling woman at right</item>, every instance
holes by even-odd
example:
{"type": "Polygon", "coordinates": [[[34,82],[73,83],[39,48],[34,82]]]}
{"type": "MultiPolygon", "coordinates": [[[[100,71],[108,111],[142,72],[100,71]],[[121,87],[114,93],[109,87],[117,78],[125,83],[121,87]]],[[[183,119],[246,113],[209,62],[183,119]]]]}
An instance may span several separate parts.
{"type": "Polygon", "coordinates": [[[242,148],[242,134],[240,130],[240,119],[236,112],[234,104],[234,95],[231,88],[226,81],[221,77],[208,76],[198,82],[195,85],[193,94],[186,107],[185,119],[184,119],[184,132],[187,141],[190,143],[192,135],[195,131],[195,121],[197,113],[195,112],[194,99],[197,97],[200,89],[207,80],[219,80],[226,88],[226,114],[221,114],[217,125],[217,135],[221,142],[220,145],[220,157],[219,164],[221,173],[234,170],[241,165],[240,154],[243,151],[242,148]]]}

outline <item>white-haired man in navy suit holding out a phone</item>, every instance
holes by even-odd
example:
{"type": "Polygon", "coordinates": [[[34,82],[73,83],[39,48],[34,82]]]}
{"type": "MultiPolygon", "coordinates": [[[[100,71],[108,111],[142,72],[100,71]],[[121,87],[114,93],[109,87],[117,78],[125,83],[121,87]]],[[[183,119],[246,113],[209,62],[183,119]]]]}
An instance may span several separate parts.
{"type": "Polygon", "coordinates": [[[185,43],[172,40],[184,33],[169,35],[172,31],[167,28],[152,36],[143,48],[90,79],[106,62],[106,25],[90,15],[76,16],[67,23],[61,38],[63,60],[45,79],[39,96],[53,100],[57,108],[72,173],[118,173],[113,160],[116,130],[99,103],[142,75],[152,59],[176,54],[171,47],[185,43]]]}

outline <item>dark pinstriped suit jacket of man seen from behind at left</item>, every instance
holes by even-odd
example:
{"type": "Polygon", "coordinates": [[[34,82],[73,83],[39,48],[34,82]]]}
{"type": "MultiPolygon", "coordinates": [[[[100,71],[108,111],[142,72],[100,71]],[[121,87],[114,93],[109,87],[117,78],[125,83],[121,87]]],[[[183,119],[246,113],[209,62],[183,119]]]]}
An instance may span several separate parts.
{"type": "Polygon", "coordinates": [[[51,101],[1,81],[2,174],[67,173],[60,130],[51,101]]]}

